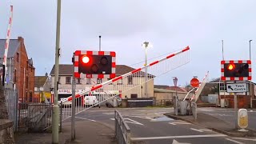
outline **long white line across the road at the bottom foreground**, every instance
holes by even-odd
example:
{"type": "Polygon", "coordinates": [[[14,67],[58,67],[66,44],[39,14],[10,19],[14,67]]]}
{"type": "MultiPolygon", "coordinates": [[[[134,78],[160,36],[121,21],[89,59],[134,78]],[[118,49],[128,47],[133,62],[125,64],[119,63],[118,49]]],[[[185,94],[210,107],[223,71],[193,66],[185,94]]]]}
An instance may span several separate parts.
{"type": "Polygon", "coordinates": [[[150,140],[150,139],[173,139],[173,138],[212,138],[212,137],[226,137],[225,134],[206,134],[206,135],[178,135],[165,137],[146,137],[146,138],[130,138],[132,141],[150,140]]]}

